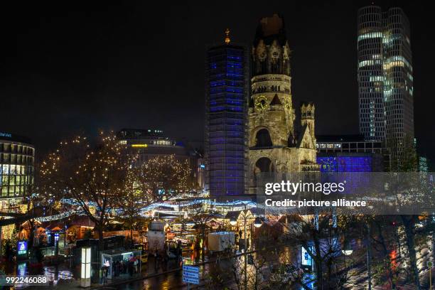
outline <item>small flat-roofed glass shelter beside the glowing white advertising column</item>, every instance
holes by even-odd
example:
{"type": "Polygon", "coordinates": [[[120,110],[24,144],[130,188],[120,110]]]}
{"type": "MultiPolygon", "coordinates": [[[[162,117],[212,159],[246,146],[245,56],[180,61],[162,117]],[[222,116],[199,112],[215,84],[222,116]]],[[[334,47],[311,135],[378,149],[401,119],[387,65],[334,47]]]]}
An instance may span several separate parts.
{"type": "Polygon", "coordinates": [[[100,267],[107,267],[108,279],[129,274],[131,270],[133,274],[138,274],[141,272],[141,255],[140,249],[126,250],[121,248],[102,251],[100,267]]]}

